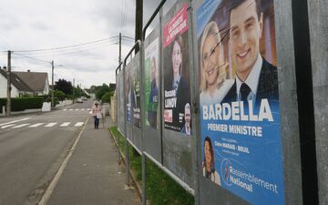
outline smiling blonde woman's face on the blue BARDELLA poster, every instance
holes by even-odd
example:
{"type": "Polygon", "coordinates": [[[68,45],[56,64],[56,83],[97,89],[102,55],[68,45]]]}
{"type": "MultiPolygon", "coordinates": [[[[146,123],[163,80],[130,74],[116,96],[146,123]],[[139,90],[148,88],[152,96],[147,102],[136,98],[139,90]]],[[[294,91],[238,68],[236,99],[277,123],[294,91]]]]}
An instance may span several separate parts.
{"type": "Polygon", "coordinates": [[[203,46],[203,74],[208,86],[214,85],[219,76],[220,45],[215,36],[207,36],[203,46]]]}

